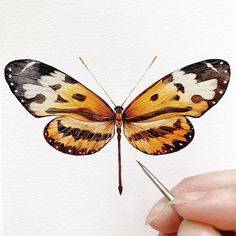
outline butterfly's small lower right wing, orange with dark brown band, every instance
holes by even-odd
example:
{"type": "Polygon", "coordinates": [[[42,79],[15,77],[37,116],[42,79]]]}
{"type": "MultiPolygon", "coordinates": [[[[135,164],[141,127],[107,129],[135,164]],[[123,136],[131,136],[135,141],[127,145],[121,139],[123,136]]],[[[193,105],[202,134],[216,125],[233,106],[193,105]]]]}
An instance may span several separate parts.
{"type": "Polygon", "coordinates": [[[152,122],[125,122],[124,134],[138,150],[150,155],[176,152],[194,137],[194,129],[184,116],[152,122]]]}

